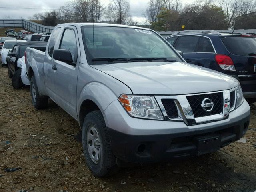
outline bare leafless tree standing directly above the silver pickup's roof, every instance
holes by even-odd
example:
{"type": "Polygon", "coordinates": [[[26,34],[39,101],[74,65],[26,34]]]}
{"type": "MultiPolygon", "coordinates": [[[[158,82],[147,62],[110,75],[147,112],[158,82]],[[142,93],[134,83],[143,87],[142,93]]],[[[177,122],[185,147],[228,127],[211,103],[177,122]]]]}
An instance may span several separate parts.
{"type": "Polygon", "coordinates": [[[125,24],[130,20],[130,4],[128,0],[110,0],[106,10],[106,18],[117,24],[125,24]]]}

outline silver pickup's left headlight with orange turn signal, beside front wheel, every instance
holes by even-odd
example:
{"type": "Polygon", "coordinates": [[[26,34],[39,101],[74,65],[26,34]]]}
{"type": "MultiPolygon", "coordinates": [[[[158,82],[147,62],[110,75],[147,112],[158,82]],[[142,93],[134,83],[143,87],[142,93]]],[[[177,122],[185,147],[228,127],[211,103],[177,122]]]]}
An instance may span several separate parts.
{"type": "Polygon", "coordinates": [[[122,94],[118,100],[131,116],[146,119],[164,119],[154,96],[122,94]]]}

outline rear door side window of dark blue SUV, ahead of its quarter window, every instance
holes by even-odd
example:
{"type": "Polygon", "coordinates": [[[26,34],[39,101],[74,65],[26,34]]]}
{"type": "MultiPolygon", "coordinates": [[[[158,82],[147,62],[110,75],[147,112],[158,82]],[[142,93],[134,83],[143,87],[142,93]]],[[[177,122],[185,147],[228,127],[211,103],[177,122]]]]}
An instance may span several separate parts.
{"type": "Polygon", "coordinates": [[[198,36],[180,36],[175,49],[183,53],[194,53],[197,49],[198,36]]]}

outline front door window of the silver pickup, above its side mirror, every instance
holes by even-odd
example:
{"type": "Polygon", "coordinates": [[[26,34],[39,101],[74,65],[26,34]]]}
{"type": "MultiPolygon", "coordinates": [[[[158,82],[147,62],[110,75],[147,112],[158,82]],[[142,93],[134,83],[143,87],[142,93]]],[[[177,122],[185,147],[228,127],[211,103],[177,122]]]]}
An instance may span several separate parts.
{"type": "Polygon", "coordinates": [[[66,29],[64,31],[64,34],[60,43],[60,49],[66,49],[70,51],[73,61],[76,60],[77,44],[76,44],[76,34],[73,30],[66,29]]]}

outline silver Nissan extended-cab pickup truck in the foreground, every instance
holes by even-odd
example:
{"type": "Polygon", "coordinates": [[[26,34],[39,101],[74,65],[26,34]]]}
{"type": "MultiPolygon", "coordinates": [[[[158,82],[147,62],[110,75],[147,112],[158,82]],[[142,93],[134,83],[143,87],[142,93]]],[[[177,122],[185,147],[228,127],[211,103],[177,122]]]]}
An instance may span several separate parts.
{"type": "Polygon", "coordinates": [[[59,24],[46,51],[27,48],[25,61],[34,107],[50,98],[79,122],[96,176],[214,152],[249,126],[236,79],[186,63],[152,30],[59,24]]]}

